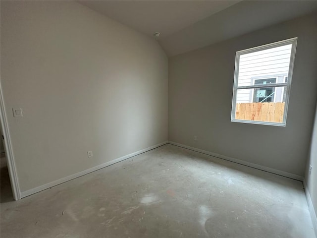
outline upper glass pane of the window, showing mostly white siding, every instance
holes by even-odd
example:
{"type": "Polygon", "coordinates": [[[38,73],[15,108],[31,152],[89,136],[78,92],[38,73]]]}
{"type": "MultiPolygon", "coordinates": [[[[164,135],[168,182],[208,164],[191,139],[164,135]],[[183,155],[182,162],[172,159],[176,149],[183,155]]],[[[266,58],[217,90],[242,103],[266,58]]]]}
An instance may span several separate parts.
{"type": "Polygon", "coordinates": [[[238,87],[284,83],[288,76],[292,45],[279,46],[240,55],[238,87]],[[259,80],[263,80],[260,82],[259,80]]]}

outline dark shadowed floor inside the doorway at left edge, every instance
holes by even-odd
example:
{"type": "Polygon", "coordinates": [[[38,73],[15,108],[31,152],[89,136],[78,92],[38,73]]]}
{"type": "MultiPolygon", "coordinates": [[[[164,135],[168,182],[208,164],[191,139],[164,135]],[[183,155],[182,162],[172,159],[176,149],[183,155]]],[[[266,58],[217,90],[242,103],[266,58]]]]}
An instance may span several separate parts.
{"type": "Polygon", "coordinates": [[[0,203],[14,201],[5,156],[1,154],[0,203]]]}

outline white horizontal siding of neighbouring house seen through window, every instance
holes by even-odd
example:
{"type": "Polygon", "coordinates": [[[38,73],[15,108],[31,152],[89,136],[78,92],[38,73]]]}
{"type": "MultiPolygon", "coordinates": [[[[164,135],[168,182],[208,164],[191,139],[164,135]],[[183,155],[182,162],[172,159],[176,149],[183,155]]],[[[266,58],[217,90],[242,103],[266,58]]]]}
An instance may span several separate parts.
{"type": "MultiPolygon", "coordinates": [[[[254,85],[256,79],[276,78],[284,82],[288,75],[291,45],[240,56],[238,86],[254,85]]],[[[276,88],[274,102],[283,100],[283,88],[276,88]]],[[[253,102],[253,89],[238,90],[237,103],[253,102]]]]}

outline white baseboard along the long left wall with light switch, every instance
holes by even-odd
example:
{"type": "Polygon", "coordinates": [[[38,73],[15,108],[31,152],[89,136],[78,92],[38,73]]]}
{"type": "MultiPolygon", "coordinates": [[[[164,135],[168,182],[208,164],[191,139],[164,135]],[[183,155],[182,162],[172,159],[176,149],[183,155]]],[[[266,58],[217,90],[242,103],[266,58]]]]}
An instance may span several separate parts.
{"type": "Polygon", "coordinates": [[[115,163],[118,163],[118,162],[120,162],[120,161],[126,160],[126,159],[128,159],[128,158],[133,157],[133,156],[142,154],[142,153],[147,152],[147,151],[149,151],[149,150],[153,150],[153,149],[155,149],[155,148],[157,148],[157,147],[159,147],[159,146],[165,145],[165,144],[167,144],[167,143],[168,143],[167,141],[164,141],[164,142],[162,142],[162,143],[159,143],[159,144],[150,146],[150,147],[145,148],[145,149],[143,149],[143,150],[139,150],[139,151],[137,151],[137,152],[134,152],[134,153],[131,153],[131,154],[122,156],[122,157],[120,157],[120,158],[111,160],[111,161],[109,161],[109,162],[106,162],[106,163],[104,163],[104,164],[98,165],[98,166],[96,166],[96,167],[93,167],[93,168],[90,168],[90,169],[87,169],[87,170],[78,172],[78,173],[76,173],[76,174],[73,174],[73,175],[70,175],[70,176],[67,176],[67,177],[64,177],[64,178],[61,178],[61,179],[57,179],[57,180],[55,180],[55,181],[53,181],[53,182],[49,182],[49,183],[43,184],[43,185],[41,185],[41,186],[38,186],[38,187],[35,187],[35,188],[32,188],[32,189],[23,191],[23,192],[21,192],[21,197],[23,198],[23,197],[26,197],[26,196],[30,196],[30,195],[32,195],[32,194],[34,194],[34,193],[43,191],[43,190],[48,189],[48,188],[50,188],[50,187],[56,186],[56,185],[58,185],[58,184],[60,184],[60,183],[67,182],[67,181],[72,180],[72,179],[76,179],[76,178],[81,177],[81,176],[83,176],[83,175],[87,175],[87,174],[92,173],[92,172],[94,172],[94,171],[97,171],[97,170],[100,170],[100,169],[102,169],[102,168],[105,168],[105,167],[107,167],[107,166],[109,166],[109,165],[113,165],[113,164],[115,164],[115,163]]]}

